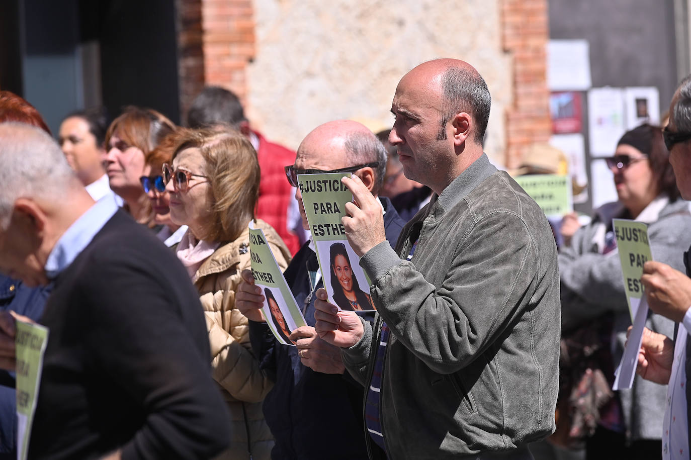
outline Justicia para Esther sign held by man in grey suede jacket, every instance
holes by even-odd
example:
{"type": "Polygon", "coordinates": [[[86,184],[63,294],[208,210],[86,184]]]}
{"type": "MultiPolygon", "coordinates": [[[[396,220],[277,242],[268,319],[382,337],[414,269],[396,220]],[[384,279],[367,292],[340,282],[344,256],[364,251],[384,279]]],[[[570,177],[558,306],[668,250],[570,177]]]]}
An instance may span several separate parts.
{"type": "Polygon", "coordinates": [[[352,193],[341,183],[350,173],[301,174],[298,186],[329,301],[342,310],[372,311],[370,280],[345,238],[341,218],[352,193]]]}

